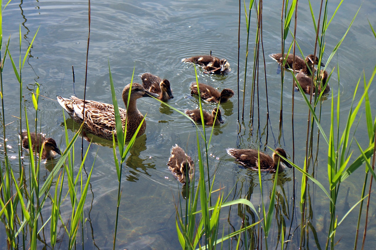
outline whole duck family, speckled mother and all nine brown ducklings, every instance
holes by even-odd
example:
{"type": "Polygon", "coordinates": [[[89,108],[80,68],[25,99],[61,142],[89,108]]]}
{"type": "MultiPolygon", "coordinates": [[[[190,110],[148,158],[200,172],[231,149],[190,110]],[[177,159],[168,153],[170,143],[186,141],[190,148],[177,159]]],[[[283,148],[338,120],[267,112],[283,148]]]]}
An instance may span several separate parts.
{"type": "MultiPolygon", "coordinates": [[[[284,68],[292,70],[293,55],[277,53],[270,54],[270,57],[276,60],[279,65],[282,65],[285,60],[284,68]]],[[[192,56],[184,58],[181,61],[199,65],[203,68],[204,73],[228,74],[231,71],[230,64],[226,59],[220,59],[211,55],[192,56]]],[[[305,60],[297,56],[295,57],[296,79],[305,93],[311,93],[312,91],[313,93],[322,92],[326,94],[330,90],[329,84],[327,84],[328,74],[325,70],[321,70],[316,76],[311,76],[312,72],[315,72],[315,65],[318,64],[318,58],[312,54],[308,55],[305,60]],[[313,84],[312,80],[314,81],[313,84]],[[321,84],[318,84],[320,82],[321,84]],[[322,86],[326,87],[322,89],[322,86]]],[[[324,66],[323,63],[320,63],[320,65],[324,66]]],[[[141,136],[146,131],[144,116],[137,109],[137,99],[153,97],[162,102],[168,102],[174,98],[170,81],[167,79],[162,79],[149,72],[140,74],[139,77],[142,84],[127,84],[122,93],[125,108],[119,108],[119,113],[123,131],[126,131],[126,141],[129,141],[133,137],[140,124],[141,127],[136,137],[141,136]]],[[[218,103],[218,105],[229,101],[235,94],[229,88],[221,89],[220,91],[214,86],[205,83],[193,82],[190,84],[191,95],[197,95],[208,103],[214,102],[218,103]]],[[[112,140],[114,136],[115,140],[117,140],[114,106],[112,104],[92,100],[84,101],[76,96],[71,96],[70,98],[57,96],[57,100],[75,122],[79,124],[83,123],[86,132],[106,140],[112,140]]],[[[196,123],[203,122],[209,126],[218,126],[224,123],[219,107],[215,107],[211,113],[205,110],[200,111],[199,108],[193,110],[186,109],[184,112],[196,123]]],[[[30,134],[30,137],[32,151],[39,152],[42,149],[40,158],[52,159],[55,155],[61,154],[55,140],[52,138],[45,138],[42,134],[35,133],[30,134]]],[[[21,140],[22,146],[29,149],[26,131],[21,133],[21,140]]],[[[238,163],[249,169],[258,170],[258,167],[260,167],[263,172],[276,172],[279,166],[278,172],[282,172],[286,167],[291,168],[290,163],[285,160],[287,154],[282,148],[276,148],[272,157],[255,149],[228,148],[226,151],[238,163]]],[[[167,166],[179,182],[188,184],[192,180],[194,161],[177,144],[171,148],[171,155],[167,166]]]]}

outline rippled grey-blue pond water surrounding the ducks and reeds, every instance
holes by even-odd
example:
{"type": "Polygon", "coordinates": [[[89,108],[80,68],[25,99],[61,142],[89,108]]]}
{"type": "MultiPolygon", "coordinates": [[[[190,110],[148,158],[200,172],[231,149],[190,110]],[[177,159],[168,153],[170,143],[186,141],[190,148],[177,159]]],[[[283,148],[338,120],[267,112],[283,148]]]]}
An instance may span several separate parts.
{"type": "MultiPolygon", "coordinates": [[[[319,3],[312,1],[315,17],[319,15],[319,3]]],[[[329,17],[332,16],[340,1],[329,4],[329,17]]],[[[359,8],[356,1],[344,1],[337,15],[332,20],[326,33],[325,60],[340,41],[353,16],[359,8]]],[[[238,61],[238,2],[237,1],[91,1],[91,33],[88,55],[88,72],[86,99],[111,103],[111,90],[109,83],[108,62],[111,65],[115,91],[120,99],[123,87],[130,83],[133,68],[135,74],[133,81],[140,82],[138,74],[151,72],[162,78],[167,78],[171,83],[174,99],[169,104],[179,110],[193,109],[198,106],[198,99],[190,96],[190,83],[195,81],[193,65],[182,63],[181,59],[198,54],[209,54],[226,58],[232,71],[227,75],[203,74],[197,68],[200,82],[212,84],[218,89],[231,88],[236,95],[229,102],[220,105],[224,124],[214,128],[209,152],[209,169],[211,175],[216,173],[214,189],[224,187],[225,196],[230,194],[230,199],[244,198],[258,206],[261,204],[258,176],[241,166],[226,154],[226,148],[254,148],[271,150],[282,147],[293,156],[291,109],[292,109],[292,76],[285,74],[283,86],[283,125],[279,130],[279,113],[281,99],[280,74],[276,74],[277,63],[268,57],[268,54],[280,52],[280,9],[281,1],[267,1],[263,6],[263,45],[266,63],[268,108],[270,120],[267,121],[267,105],[264,84],[264,68],[260,68],[259,82],[259,127],[258,113],[255,107],[253,126],[250,123],[251,77],[253,69],[253,47],[255,41],[255,14],[252,12],[250,35],[250,59],[247,69],[247,87],[245,98],[244,120],[238,123],[238,98],[237,98],[237,61],[238,61]]],[[[335,102],[341,98],[341,123],[347,119],[347,114],[352,102],[356,83],[364,70],[367,81],[375,64],[376,39],[368,24],[368,20],[376,27],[374,13],[376,7],[371,1],[362,3],[353,26],[340,46],[338,53],[327,65],[327,70],[334,69],[329,84],[335,102]],[[368,19],[368,20],[367,20],[368,19]],[[340,71],[338,77],[337,70],[340,71]],[[338,79],[340,79],[338,84],[338,79]]],[[[242,23],[240,32],[240,86],[244,83],[244,65],[246,50],[246,26],[242,3],[242,23]]],[[[64,127],[62,126],[62,108],[55,100],[56,95],[69,97],[76,95],[83,98],[85,83],[86,47],[88,40],[88,3],[86,1],[24,1],[13,0],[3,11],[3,38],[11,36],[10,51],[16,60],[19,54],[19,26],[21,25],[22,49],[26,51],[36,30],[38,34],[33,42],[30,57],[27,58],[23,68],[24,88],[23,95],[30,117],[33,116],[31,93],[33,84],[41,84],[41,97],[39,100],[39,113],[41,116],[41,130],[47,136],[53,137],[60,149],[65,149],[64,127]],[[72,79],[72,65],[74,66],[75,83],[72,79]]],[[[321,27],[321,26],[320,26],[321,27]]],[[[303,53],[311,54],[314,51],[315,30],[312,24],[309,5],[299,3],[297,20],[297,41],[303,53]]],[[[287,40],[287,47],[291,36],[287,40]]],[[[3,44],[4,45],[4,44],[3,44]]],[[[14,76],[11,63],[8,61],[4,68],[3,82],[5,96],[5,123],[7,125],[7,138],[13,148],[10,154],[17,153],[17,133],[19,122],[13,116],[19,115],[19,84],[14,76]]],[[[360,84],[355,100],[359,100],[363,91],[360,84]]],[[[375,88],[371,86],[369,95],[372,96],[375,88]]],[[[321,126],[329,133],[331,114],[331,95],[322,104],[321,126]],[[326,119],[327,117],[327,119],[326,119]]],[[[243,92],[240,92],[240,112],[243,104],[243,92]]],[[[375,110],[376,101],[371,99],[371,108],[375,110]]],[[[141,98],[138,109],[146,114],[146,133],[139,137],[126,160],[123,170],[122,198],[120,206],[119,226],[117,233],[117,249],[179,249],[180,244],[175,228],[175,204],[181,197],[181,184],[174,179],[167,168],[170,149],[175,143],[186,149],[187,153],[197,162],[196,128],[191,122],[176,111],[161,105],[152,98],[141,98]]],[[[124,107],[120,103],[120,107],[124,107]]],[[[203,103],[206,110],[214,108],[213,104],[203,103]]],[[[362,106],[362,110],[364,110],[362,106]]],[[[67,113],[65,113],[67,116],[67,113]]],[[[241,113],[240,113],[241,116],[241,113]]],[[[358,119],[360,116],[358,117],[358,119]]],[[[29,118],[31,119],[31,118],[29,118]]],[[[294,162],[303,167],[306,148],[306,127],[308,108],[300,95],[295,93],[294,101],[294,162]]],[[[24,117],[23,117],[24,126],[24,117]]],[[[74,124],[71,119],[67,121],[70,138],[73,137],[74,124]]],[[[207,128],[207,133],[210,129],[207,128]]],[[[364,114],[358,125],[356,139],[365,148],[368,145],[367,127],[364,114]]],[[[317,133],[317,128],[315,128],[317,133]]],[[[317,135],[315,135],[317,138],[317,135]]],[[[319,144],[317,163],[314,175],[328,188],[327,181],[327,146],[322,140],[319,144]]],[[[314,139],[315,140],[315,139],[314,139]]],[[[316,139],[317,141],[317,139],[316,139]]],[[[98,140],[98,142],[100,142],[98,140]]],[[[354,144],[355,145],[355,144],[354,144]]],[[[89,143],[84,141],[85,149],[89,143]]],[[[80,140],[76,143],[76,153],[80,153],[80,140]]],[[[357,148],[353,148],[357,150],[357,148]]],[[[358,151],[356,151],[358,152],[358,151]]],[[[356,153],[358,155],[358,153],[356,153]]],[[[27,157],[25,158],[26,161],[27,157]]],[[[14,160],[14,169],[18,170],[18,160],[14,160]]],[[[90,145],[89,155],[86,160],[87,170],[93,166],[91,188],[85,203],[84,244],[86,249],[110,249],[115,228],[116,203],[118,181],[114,165],[111,144],[102,142],[102,145],[90,145]],[[95,161],[94,161],[95,160],[95,161]],[[93,165],[94,163],[94,165],[93,165]]],[[[77,168],[79,165],[77,166],[77,168]]],[[[47,175],[51,163],[41,166],[42,175],[47,175]]],[[[311,170],[312,173],[312,170],[311,170]]],[[[270,190],[273,187],[273,174],[263,174],[263,194],[265,203],[269,202],[270,190]]],[[[295,204],[299,211],[299,197],[301,175],[296,171],[297,188],[295,204]]],[[[361,194],[364,171],[359,169],[353,176],[341,184],[342,197],[338,203],[338,218],[342,218],[348,209],[359,200],[361,194]]],[[[284,212],[287,227],[291,224],[293,211],[293,169],[287,169],[279,175],[277,189],[283,193],[283,199],[288,203],[284,212]]],[[[309,184],[311,195],[312,223],[317,233],[317,238],[310,232],[311,241],[307,239],[306,248],[317,248],[317,242],[325,246],[327,228],[330,215],[329,202],[320,188],[309,184]],[[317,242],[316,242],[317,240],[317,242]]],[[[281,196],[282,197],[282,196],[281,196]]],[[[282,199],[282,198],[281,198],[282,199]]],[[[371,200],[371,207],[374,199],[371,200]]],[[[46,205],[45,213],[49,214],[46,205]]],[[[223,220],[220,230],[225,234],[238,230],[241,225],[242,215],[237,207],[223,209],[223,220]],[[233,229],[232,229],[233,227],[233,229]]],[[[65,201],[61,208],[62,218],[67,221],[71,215],[70,202],[65,201]]],[[[371,209],[371,215],[374,215],[371,209]]],[[[249,216],[249,214],[247,215],[249,216]]],[[[292,231],[298,226],[300,214],[294,215],[292,231]],[[296,218],[297,217],[297,218],[296,218]]],[[[340,239],[337,247],[347,249],[353,247],[355,239],[358,208],[351,216],[347,217],[338,227],[336,239],[340,239]]],[[[364,218],[364,217],[363,217],[364,218]]],[[[252,220],[249,219],[249,223],[252,220]]],[[[374,220],[368,224],[368,234],[365,249],[370,249],[376,243],[374,220]]],[[[277,223],[270,232],[270,246],[277,244],[277,223]]],[[[0,226],[0,230],[3,227],[0,226]]],[[[300,232],[290,236],[290,249],[299,247],[300,232]]],[[[4,235],[4,233],[1,233],[4,235]]],[[[67,237],[61,229],[60,237],[67,237]]],[[[81,236],[80,236],[81,237],[81,236]]],[[[48,238],[48,237],[47,237],[48,238]]],[[[287,238],[286,238],[287,239],[287,238]]],[[[47,239],[48,241],[48,239],[47,239]]],[[[0,237],[0,244],[6,244],[6,238],[0,237]]],[[[42,246],[42,243],[39,243],[42,246]]],[[[227,242],[226,245],[236,245],[227,242]]],[[[68,245],[68,240],[63,238],[61,248],[68,245]]],[[[244,246],[243,246],[244,247],[244,246]]],[[[224,247],[226,248],[226,247],[224,247]]]]}

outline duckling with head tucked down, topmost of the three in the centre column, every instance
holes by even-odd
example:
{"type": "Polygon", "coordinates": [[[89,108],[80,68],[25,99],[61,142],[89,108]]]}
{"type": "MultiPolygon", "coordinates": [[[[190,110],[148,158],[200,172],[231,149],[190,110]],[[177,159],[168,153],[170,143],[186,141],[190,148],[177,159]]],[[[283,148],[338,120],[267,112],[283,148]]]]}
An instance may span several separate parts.
{"type": "Polygon", "coordinates": [[[227,74],[231,71],[230,63],[226,59],[211,55],[183,58],[182,62],[196,63],[204,69],[204,73],[227,74]]]}

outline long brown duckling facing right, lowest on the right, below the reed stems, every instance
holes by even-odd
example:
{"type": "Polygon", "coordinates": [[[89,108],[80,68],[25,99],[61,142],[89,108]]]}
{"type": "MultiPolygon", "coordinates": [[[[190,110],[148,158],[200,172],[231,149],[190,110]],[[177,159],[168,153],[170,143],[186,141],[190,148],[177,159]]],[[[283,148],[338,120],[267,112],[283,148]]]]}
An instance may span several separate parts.
{"type": "MultiPolygon", "coordinates": [[[[239,163],[253,170],[258,170],[258,151],[255,149],[236,149],[229,148],[226,150],[227,154],[235,158],[239,163]]],[[[276,148],[276,152],[287,158],[286,152],[281,148],[276,148]]],[[[273,152],[273,158],[269,155],[260,152],[260,170],[268,172],[276,172],[278,163],[283,162],[287,167],[291,168],[290,163],[280,158],[275,152],[273,152]]],[[[283,164],[279,165],[279,173],[283,172],[285,166],[283,164]]]]}

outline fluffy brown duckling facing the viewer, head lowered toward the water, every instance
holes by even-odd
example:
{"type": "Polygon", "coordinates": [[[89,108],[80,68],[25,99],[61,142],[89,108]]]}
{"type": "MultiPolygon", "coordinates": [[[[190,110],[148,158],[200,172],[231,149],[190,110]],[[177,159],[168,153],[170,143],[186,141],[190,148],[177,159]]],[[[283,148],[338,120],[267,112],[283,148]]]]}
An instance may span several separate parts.
{"type": "Polygon", "coordinates": [[[192,158],[185,154],[177,144],[171,148],[171,157],[168,159],[167,166],[181,183],[189,183],[192,180],[194,169],[192,158]],[[187,173],[188,179],[186,179],[187,173]]]}

